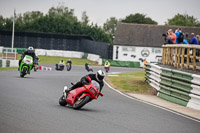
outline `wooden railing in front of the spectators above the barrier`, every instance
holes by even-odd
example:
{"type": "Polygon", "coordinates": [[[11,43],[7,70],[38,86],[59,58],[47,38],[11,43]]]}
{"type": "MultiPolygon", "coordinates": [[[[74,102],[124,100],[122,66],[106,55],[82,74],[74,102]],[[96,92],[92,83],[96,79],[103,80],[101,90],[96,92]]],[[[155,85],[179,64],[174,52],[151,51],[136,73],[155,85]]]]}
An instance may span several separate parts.
{"type": "Polygon", "coordinates": [[[200,70],[200,45],[167,44],[162,48],[163,65],[173,65],[177,69],[200,70]]]}

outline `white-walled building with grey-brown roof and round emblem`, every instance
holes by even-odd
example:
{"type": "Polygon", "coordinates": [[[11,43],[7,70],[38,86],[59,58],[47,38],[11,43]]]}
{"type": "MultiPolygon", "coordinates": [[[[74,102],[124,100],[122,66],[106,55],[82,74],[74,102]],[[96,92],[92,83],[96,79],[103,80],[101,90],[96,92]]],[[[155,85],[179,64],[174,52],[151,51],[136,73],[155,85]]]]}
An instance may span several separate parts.
{"type": "Polygon", "coordinates": [[[118,23],[115,32],[113,46],[113,60],[140,62],[161,62],[162,57],[162,35],[161,43],[158,37],[153,35],[152,28],[155,25],[141,25],[118,23]],[[157,44],[155,44],[157,42],[157,44]]]}

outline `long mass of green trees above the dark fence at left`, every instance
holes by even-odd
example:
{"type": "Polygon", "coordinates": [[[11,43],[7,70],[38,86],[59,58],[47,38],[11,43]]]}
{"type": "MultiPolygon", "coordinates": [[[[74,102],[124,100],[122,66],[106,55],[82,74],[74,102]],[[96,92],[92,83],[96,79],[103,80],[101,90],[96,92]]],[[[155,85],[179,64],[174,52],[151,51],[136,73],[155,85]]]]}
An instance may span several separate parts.
{"type": "MultiPolygon", "coordinates": [[[[3,18],[0,15],[0,30],[12,30],[12,17],[3,18]]],[[[86,12],[82,14],[82,21],[74,15],[74,9],[63,5],[51,7],[46,15],[39,11],[25,12],[16,17],[15,31],[49,32],[64,34],[82,34],[94,38],[96,41],[111,43],[112,39],[101,27],[89,25],[86,12]]]]}

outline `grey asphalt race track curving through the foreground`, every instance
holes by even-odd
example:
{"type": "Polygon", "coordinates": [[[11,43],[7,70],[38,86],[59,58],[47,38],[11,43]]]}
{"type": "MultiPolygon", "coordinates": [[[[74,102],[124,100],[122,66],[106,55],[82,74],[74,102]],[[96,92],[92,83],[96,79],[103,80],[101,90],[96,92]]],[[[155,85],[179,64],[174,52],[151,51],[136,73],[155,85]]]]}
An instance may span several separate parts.
{"type": "MultiPolygon", "coordinates": [[[[139,70],[116,67],[111,72],[139,70]]],[[[60,106],[63,86],[86,74],[83,66],[31,72],[25,78],[16,70],[1,71],[0,133],[199,133],[198,121],[127,98],[107,85],[104,97],[81,110],[60,106]]]]}

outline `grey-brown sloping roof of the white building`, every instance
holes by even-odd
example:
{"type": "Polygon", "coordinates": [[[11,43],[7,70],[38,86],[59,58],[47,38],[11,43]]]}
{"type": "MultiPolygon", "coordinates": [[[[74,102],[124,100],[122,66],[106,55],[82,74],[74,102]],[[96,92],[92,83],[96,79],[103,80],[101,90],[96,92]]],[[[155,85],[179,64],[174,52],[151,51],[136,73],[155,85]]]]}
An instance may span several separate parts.
{"type": "MultiPolygon", "coordinates": [[[[180,26],[179,26],[180,27],[180,26]]],[[[140,46],[140,47],[162,47],[164,43],[163,33],[168,29],[175,31],[178,26],[149,25],[121,23],[117,24],[114,45],[140,46]]],[[[200,34],[200,28],[181,27],[183,32],[200,34]]]]}

